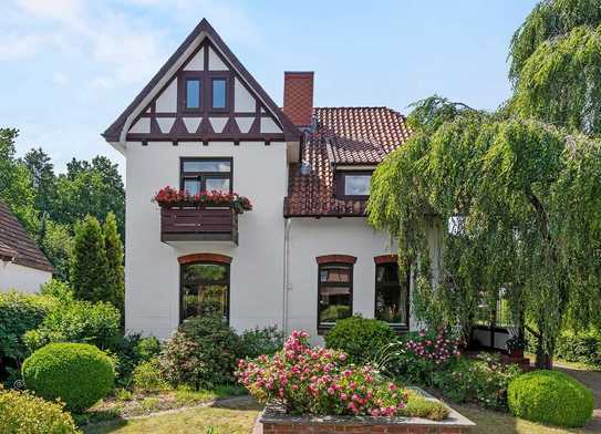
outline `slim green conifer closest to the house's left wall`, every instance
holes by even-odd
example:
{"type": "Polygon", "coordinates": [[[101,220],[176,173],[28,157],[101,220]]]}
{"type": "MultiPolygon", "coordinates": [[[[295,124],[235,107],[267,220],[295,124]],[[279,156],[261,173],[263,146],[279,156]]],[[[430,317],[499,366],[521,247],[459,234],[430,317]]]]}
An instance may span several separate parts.
{"type": "Polygon", "coordinates": [[[103,227],[104,250],[108,264],[108,287],[110,301],[123,312],[125,297],[125,275],[123,268],[123,244],[117,232],[117,220],[113,213],[106,215],[103,227]]]}

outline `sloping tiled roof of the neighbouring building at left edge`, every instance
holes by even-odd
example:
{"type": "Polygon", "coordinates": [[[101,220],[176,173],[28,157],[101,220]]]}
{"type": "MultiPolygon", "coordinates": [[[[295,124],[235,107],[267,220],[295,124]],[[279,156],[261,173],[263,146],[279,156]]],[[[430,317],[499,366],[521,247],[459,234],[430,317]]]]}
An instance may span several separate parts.
{"type": "Polygon", "coordinates": [[[9,207],[0,203],[0,257],[12,262],[53,272],[52,265],[25,232],[9,207]]]}

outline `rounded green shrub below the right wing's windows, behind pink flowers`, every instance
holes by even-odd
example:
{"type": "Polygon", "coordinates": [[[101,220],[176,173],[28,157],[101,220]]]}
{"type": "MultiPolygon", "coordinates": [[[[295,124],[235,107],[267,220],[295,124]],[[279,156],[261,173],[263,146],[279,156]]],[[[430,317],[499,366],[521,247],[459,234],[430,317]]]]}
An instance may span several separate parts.
{"type": "Polygon", "coordinates": [[[396,334],[388,324],[361,317],[339,320],[325,334],[327,348],[344,351],[353,363],[374,360],[384,347],[395,340],[396,334]]]}

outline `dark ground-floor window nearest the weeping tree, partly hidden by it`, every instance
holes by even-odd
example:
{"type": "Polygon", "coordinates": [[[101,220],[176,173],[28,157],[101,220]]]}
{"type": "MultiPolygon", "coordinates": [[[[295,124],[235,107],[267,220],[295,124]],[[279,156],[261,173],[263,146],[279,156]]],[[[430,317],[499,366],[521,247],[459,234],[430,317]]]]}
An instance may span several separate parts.
{"type": "Polygon", "coordinates": [[[393,327],[408,328],[408,276],[401,281],[396,262],[375,266],[375,318],[393,327]]]}

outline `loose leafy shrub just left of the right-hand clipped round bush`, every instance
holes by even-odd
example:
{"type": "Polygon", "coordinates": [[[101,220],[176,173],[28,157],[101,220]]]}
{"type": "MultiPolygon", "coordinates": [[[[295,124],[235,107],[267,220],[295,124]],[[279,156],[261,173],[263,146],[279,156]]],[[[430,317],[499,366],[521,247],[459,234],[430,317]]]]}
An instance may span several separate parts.
{"type": "Polygon", "coordinates": [[[435,371],[433,383],[455,402],[476,402],[485,407],[506,409],[509,382],[521,373],[516,364],[502,364],[498,355],[459,359],[435,371]]]}

